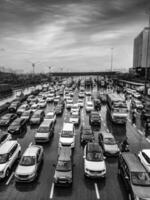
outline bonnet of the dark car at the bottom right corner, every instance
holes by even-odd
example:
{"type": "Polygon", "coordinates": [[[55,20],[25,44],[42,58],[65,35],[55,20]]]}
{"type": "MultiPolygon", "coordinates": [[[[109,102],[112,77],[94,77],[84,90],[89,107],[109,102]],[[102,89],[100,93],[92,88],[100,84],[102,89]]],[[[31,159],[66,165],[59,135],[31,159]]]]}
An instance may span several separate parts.
{"type": "Polygon", "coordinates": [[[150,186],[143,187],[143,186],[132,185],[132,189],[136,196],[143,198],[145,200],[150,199],[150,186]]]}

